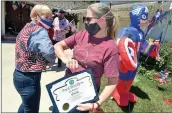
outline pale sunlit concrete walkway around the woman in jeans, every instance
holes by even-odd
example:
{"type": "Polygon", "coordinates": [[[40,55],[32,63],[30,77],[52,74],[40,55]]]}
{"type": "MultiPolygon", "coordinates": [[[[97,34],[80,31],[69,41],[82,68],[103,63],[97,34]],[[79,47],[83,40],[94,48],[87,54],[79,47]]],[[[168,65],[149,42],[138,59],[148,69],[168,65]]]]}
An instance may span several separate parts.
{"type": "MultiPolygon", "coordinates": [[[[67,50],[71,55],[71,51],[67,50]]],[[[17,112],[21,98],[13,85],[13,71],[15,68],[15,43],[2,43],[2,112],[17,112]]],[[[42,74],[40,112],[51,112],[52,105],[46,85],[63,77],[65,65],[61,68],[53,67],[54,71],[42,74]],[[57,70],[57,72],[55,71],[57,70]]]]}

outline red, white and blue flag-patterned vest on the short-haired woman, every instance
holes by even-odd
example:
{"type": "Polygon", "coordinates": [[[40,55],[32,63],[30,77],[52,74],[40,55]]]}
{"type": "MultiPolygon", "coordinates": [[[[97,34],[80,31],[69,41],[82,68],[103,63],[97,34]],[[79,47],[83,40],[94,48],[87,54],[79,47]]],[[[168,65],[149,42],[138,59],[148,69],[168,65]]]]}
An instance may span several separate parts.
{"type": "Polygon", "coordinates": [[[38,53],[28,50],[27,42],[30,33],[38,29],[37,24],[28,23],[21,30],[16,38],[16,52],[15,63],[16,68],[20,71],[45,70],[46,60],[38,53]]]}

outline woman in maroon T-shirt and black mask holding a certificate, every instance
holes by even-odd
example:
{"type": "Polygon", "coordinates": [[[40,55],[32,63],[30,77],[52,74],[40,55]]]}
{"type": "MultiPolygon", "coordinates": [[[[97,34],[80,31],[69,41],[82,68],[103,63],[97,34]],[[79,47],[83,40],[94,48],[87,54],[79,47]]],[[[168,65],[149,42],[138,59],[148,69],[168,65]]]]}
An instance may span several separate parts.
{"type": "Polygon", "coordinates": [[[114,41],[116,28],[117,21],[109,6],[95,3],[87,9],[85,30],[55,45],[55,53],[66,64],[67,74],[91,68],[97,92],[100,89],[102,75],[108,79],[99,100],[95,103],[78,105],[79,111],[96,110],[116,87],[119,74],[119,52],[114,41]],[[72,59],[64,52],[68,48],[73,49],[72,59]]]}

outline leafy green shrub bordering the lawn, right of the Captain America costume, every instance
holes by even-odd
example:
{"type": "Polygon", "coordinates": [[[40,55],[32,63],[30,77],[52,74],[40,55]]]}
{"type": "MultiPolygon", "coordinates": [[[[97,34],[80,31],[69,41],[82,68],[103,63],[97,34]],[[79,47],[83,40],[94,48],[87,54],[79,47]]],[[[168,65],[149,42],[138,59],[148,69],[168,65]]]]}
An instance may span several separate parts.
{"type": "Polygon", "coordinates": [[[138,74],[147,77],[151,81],[155,81],[153,74],[160,73],[164,69],[167,69],[169,73],[172,73],[172,42],[163,43],[160,47],[160,60],[156,60],[152,57],[140,55],[140,67],[138,74]]]}

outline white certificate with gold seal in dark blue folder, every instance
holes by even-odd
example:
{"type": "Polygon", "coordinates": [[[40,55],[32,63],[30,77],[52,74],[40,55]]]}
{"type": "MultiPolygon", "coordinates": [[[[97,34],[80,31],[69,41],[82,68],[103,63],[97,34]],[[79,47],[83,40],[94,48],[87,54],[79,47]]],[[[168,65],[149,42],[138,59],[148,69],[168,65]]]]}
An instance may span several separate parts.
{"type": "Polygon", "coordinates": [[[53,103],[53,109],[57,113],[77,112],[78,104],[99,99],[90,69],[66,75],[46,85],[46,88],[53,103]]]}

